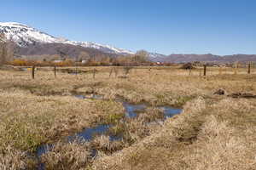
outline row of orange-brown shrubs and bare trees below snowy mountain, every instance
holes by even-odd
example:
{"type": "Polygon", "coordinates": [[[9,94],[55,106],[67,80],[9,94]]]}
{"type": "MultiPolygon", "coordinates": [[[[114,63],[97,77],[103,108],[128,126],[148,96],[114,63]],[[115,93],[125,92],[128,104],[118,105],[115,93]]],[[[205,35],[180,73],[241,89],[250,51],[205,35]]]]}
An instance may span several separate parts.
{"type": "Polygon", "coordinates": [[[119,55],[115,57],[109,57],[102,55],[90,55],[86,52],[81,52],[77,57],[69,57],[68,55],[44,55],[41,57],[32,56],[32,58],[15,59],[9,62],[11,65],[38,65],[38,66],[98,66],[98,65],[120,65],[120,66],[132,66],[132,65],[150,65],[149,55],[146,51],[140,50],[136,54],[131,55],[119,55]],[[55,62],[58,61],[58,62],[55,62]],[[83,62],[85,61],[85,62],[83,62]]]}

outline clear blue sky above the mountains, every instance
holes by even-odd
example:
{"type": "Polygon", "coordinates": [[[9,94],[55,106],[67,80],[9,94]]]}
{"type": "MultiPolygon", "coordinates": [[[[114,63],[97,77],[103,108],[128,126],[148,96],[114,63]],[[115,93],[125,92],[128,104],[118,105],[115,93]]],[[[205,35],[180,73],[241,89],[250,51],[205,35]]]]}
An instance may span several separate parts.
{"type": "Polygon", "coordinates": [[[254,0],[8,0],[0,21],[160,54],[256,54],[254,0]]]}

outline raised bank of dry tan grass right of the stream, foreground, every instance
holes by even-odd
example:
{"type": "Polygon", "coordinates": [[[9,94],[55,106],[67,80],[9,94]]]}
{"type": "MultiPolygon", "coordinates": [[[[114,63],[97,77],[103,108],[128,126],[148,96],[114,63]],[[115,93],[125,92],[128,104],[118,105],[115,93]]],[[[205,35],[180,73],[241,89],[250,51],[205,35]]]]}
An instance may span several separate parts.
{"type": "MultiPolygon", "coordinates": [[[[209,105],[196,99],[157,133],[113,156],[102,156],[93,169],[255,169],[256,123],[248,125],[247,120],[240,128],[229,122],[232,111],[220,110],[225,100],[209,105]]],[[[236,109],[255,114],[247,101],[228,100],[236,109]]]]}

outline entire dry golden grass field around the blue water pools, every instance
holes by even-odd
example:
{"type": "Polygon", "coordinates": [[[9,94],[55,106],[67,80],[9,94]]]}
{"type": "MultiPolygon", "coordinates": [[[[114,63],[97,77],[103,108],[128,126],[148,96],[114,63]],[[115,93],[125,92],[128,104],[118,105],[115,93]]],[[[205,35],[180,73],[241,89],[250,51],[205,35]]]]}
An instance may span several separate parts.
{"type": "Polygon", "coordinates": [[[0,70],[1,170],[40,169],[39,161],[49,170],[256,169],[253,71],[234,74],[225,68],[220,75],[212,67],[202,77],[202,69],[137,67],[127,75],[118,68],[118,75],[109,77],[111,67],[79,68],[78,75],[67,69],[75,70],[58,68],[55,77],[52,68],[40,68],[35,79],[31,71],[0,70]],[[218,89],[224,95],[214,94],[218,89]],[[85,94],[103,99],[75,97],[85,94]],[[149,107],[124,121],[118,99],[149,107]],[[164,105],[183,111],[158,122],[164,105]],[[107,133],[65,141],[101,124],[111,124],[108,133],[121,133],[122,139],[107,133]],[[39,160],[35,152],[41,144],[54,146],[39,160]]]}

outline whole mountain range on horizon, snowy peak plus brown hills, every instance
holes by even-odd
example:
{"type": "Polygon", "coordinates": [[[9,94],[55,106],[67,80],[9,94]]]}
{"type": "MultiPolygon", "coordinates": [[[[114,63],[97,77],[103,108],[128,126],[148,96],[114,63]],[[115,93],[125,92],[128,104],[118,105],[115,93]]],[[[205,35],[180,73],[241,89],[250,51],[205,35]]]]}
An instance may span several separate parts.
{"type": "MultiPolygon", "coordinates": [[[[16,55],[37,56],[65,54],[69,57],[77,57],[81,52],[86,52],[90,56],[117,57],[119,55],[134,54],[133,52],[121,48],[114,48],[109,45],[102,45],[95,42],[77,42],[66,38],[54,37],[31,26],[16,22],[0,22],[0,33],[7,39],[15,42],[17,48],[16,55]]],[[[194,61],[204,62],[247,62],[256,61],[255,54],[235,54],[235,55],[214,55],[214,54],[157,54],[148,53],[149,59],[154,62],[186,63],[194,61]]]]}

